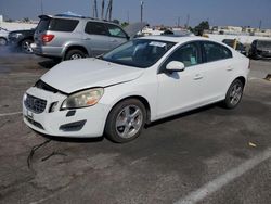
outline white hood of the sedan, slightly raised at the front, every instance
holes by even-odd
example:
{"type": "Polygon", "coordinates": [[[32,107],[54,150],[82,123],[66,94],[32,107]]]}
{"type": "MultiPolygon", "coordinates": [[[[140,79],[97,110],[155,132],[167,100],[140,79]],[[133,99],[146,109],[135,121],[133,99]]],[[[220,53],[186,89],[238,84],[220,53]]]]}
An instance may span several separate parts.
{"type": "Polygon", "coordinates": [[[92,87],[107,87],[134,80],[143,69],[118,65],[98,59],[65,61],[46,73],[41,80],[51,87],[72,93],[92,87]]]}

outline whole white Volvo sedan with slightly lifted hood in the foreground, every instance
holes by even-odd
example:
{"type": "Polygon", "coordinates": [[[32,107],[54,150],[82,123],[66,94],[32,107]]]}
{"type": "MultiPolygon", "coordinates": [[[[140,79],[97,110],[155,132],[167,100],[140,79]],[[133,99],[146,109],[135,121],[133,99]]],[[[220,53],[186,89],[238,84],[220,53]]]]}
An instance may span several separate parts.
{"type": "Polygon", "coordinates": [[[157,119],[220,101],[236,107],[248,68],[249,59],[206,38],[137,38],[50,69],[24,94],[24,122],[50,136],[128,142],[157,119]]]}

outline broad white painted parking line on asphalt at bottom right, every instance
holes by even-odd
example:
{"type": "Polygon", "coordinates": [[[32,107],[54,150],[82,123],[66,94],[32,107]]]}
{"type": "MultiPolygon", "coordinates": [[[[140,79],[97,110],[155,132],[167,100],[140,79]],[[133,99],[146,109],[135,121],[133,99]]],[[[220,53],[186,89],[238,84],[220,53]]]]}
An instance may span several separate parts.
{"type": "Polygon", "coordinates": [[[253,157],[251,160],[248,160],[245,163],[241,164],[236,168],[231,169],[230,171],[219,176],[215,180],[204,184],[199,189],[191,192],[189,195],[175,202],[175,204],[195,204],[270,157],[271,149],[268,149],[259,155],[253,157]]]}

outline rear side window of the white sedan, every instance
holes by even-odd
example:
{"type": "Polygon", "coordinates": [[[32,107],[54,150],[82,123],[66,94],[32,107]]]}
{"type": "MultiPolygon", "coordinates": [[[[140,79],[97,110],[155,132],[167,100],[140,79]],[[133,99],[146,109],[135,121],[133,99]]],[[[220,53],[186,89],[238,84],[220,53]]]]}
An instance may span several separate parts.
{"type": "Polygon", "coordinates": [[[214,62],[232,58],[232,52],[222,44],[216,42],[203,42],[203,44],[206,62],[214,62]]]}

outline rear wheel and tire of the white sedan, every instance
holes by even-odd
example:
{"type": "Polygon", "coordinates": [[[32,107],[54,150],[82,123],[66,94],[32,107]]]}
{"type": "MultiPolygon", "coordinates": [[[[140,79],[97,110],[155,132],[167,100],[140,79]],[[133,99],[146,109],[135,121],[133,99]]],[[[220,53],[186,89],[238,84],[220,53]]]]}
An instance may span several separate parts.
{"type": "Polygon", "coordinates": [[[223,106],[225,109],[234,109],[241,102],[244,91],[244,84],[240,79],[235,79],[227,91],[223,106]]]}

